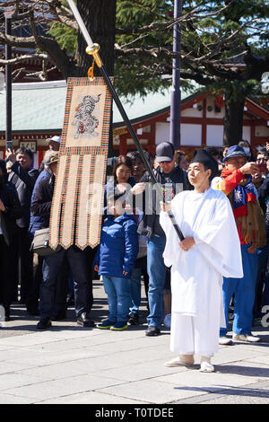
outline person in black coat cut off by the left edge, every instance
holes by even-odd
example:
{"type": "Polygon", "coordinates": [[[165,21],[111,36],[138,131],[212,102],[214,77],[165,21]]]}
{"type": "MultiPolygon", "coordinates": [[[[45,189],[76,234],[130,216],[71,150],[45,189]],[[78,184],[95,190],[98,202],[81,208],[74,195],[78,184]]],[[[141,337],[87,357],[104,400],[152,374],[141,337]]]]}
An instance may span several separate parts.
{"type": "Polygon", "coordinates": [[[9,321],[13,301],[13,252],[17,233],[16,219],[22,217],[22,207],[16,189],[7,181],[4,160],[0,160],[0,303],[5,321],[9,321]]]}

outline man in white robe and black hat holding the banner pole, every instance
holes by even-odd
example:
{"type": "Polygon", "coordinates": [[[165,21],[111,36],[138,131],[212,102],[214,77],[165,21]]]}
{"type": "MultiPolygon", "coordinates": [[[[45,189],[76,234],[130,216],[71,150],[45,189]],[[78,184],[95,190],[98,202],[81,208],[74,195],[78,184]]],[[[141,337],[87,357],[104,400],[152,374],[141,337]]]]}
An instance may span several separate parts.
{"type": "Polygon", "coordinates": [[[206,151],[196,151],[188,169],[195,190],[183,191],[170,204],[162,204],[160,216],[167,239],[163,258],[171,267],[170,349],[179,352],[166,365],[193,365],[198,354],[201,371],[206,372],[214,370],[211,357],[218,350],[225,322],[222,277],[243,277],[230,201],[210,188],[214,165],[206,151]],[[167,213],[169,207],[185,237],[182,242],[167,213]]]}

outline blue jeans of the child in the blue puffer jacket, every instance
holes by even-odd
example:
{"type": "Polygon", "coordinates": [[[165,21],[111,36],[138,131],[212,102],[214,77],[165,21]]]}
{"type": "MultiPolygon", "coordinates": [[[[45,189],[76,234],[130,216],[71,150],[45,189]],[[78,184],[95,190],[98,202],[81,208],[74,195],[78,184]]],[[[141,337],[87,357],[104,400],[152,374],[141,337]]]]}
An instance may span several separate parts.
{"type": "Polygon", "coordinates": [[[129,313],[129,280],[121,277],[102,276],[105,292],[108,295],[109,320],[126,322],[129,313]]]}

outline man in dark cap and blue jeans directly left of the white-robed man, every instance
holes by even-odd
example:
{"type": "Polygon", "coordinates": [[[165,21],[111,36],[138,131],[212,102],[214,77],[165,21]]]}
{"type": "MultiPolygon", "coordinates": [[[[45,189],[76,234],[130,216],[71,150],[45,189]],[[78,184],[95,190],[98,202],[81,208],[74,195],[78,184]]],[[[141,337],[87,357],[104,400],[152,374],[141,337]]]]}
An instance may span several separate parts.
{"type": "MultiPolygon", "coordinates": [[[[161,184],[164,196],[174,196],[177,191],[192,189],[187,180],[187,171],[180,169],[176,164],[174,146],[170,142],[161,142],[156,146],[156,162],[159,167],[153,169],[155,179],[161,184]]],[[[160,224],[160,198],[157,198],[155,189],[152,189],[151,178],[146,171],[139,183],[134,185],[132,193],[141,194],[145,191],[145,198],[152,195],[152,209],[147,209],[149,201],[145,204],[142,222],[138,233],[147,236],[147,271],[149,275],[148,301],[150,314],[147,317],[148,328],[145,335],[159,336],[164,318],[163,287],[165,284],[167,268],[164,264],[162,253],[166,237],[160,224]]]]}

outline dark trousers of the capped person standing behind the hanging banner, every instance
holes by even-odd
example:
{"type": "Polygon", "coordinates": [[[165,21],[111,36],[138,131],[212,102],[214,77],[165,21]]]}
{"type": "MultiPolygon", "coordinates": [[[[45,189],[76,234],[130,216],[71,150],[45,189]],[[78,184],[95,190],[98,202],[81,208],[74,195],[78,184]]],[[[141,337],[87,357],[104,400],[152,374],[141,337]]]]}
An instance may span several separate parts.
{"type": "MultiPolygon", "coordinates": [[[[59,283],[59,273],[63,260],[68,259],[74,275],[74,306],[78,317],[82,312],[90,312],[93,302],[91,265],[87,251],[81,251],[71,246],[66,251],[63,249],[47,257],[43,262],[43,280],[40,285],[40,318],[50,318],[56,295],[56,287],[59,283]]],[[[66,280],[67,285],[67,280],[66,280]]],[[[66,298],[65,298],[66,299],[66,298]]]]}

